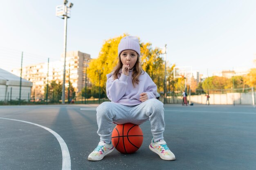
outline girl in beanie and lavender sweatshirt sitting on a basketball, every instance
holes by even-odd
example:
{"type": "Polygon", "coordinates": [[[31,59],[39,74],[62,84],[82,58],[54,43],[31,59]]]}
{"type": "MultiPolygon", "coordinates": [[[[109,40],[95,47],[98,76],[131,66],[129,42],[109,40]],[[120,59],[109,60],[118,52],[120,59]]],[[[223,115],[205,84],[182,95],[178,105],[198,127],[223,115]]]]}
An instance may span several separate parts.
{"type": "Polygon", "coordinates": [[[163,103],[155,99],[157,86],[141,68],[139,56],[138,38],[122,38],[118,45],[117,67],[107,74],[106,91],[111,102],[104,102],[97,107],[100,142],[88,156],[90,161],[99,161],[114,151],[111,143],[113,122],[140,125],[148,120],[153,134],[149,149],[164,160],[175,160],[163,137],[163,103]]]}

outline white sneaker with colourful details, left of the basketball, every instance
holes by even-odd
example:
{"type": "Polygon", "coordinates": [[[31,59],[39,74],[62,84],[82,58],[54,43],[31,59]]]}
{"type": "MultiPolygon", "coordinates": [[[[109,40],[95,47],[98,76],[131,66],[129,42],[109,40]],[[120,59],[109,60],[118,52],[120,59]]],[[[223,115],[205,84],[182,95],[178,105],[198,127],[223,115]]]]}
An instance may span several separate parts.
{"type": "Polygon", "coordinates": [[[94,149],[92,153],[89,154],[88,160],[90,161],[99,161],[104,158],[107,154],[110,154],[114,151],[114,146],[112,143],[107,144],[103,141],[100,141],[97,148],[94,149]]]}

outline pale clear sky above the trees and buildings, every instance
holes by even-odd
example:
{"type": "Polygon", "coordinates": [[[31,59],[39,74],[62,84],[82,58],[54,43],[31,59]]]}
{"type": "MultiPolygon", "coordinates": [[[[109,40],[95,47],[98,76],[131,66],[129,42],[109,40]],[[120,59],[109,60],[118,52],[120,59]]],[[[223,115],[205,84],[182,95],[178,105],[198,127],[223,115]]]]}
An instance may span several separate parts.
{"type": "MultiPolygon", "coordinates": [[[[60,60],[63,0],[0,0],[0,68],[60,60]]],[[[105,40],[124,33],[167,45],[169,64],[209,75],[255,67],[256,0],[69,0],[67,51],[97,58],[105,40]]],[[[163,56],[164,57],[164,56],[163,56]]]]}

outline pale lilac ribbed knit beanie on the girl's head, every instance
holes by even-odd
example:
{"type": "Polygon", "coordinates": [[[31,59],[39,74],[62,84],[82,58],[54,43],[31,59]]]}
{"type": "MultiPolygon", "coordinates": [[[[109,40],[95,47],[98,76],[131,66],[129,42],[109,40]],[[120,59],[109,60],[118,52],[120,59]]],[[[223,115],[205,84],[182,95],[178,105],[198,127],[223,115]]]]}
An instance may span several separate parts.
{"type": "Polygon", "coordinates": [[[132,49],[140,56],[139,39],[135,36],[126,36],[122,38],[118,45],[118,56],[126,49],[132,49]]]}

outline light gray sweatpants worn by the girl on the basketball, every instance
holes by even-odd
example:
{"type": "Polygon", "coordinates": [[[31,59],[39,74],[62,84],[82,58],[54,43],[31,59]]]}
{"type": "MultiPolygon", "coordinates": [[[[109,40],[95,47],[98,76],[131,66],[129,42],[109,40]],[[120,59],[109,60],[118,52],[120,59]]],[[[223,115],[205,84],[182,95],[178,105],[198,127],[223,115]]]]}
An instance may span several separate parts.
{"type": "Polygon", "coordinates": [[[120,105],[112,102],[101,103],[97,107],[97,123],[101,141],[110,143],[112,134],[112,123],[133,123],[140,125],[150,121],[151,132],[154,141],[164,139],[164,107],[163,103],[151,98],[135,106],[120,105]]]}

